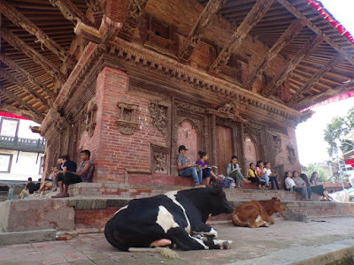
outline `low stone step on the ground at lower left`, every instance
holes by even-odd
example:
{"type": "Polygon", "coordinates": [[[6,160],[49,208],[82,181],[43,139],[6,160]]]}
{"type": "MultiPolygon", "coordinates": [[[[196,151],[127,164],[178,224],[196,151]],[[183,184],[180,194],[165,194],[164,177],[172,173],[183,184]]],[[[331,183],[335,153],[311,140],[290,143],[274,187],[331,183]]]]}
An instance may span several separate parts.
{"type": "Polygon", "coordinates": [[[56,239],[56,235],[57,230],[55,229],[0,232],[0,246],[54,241],[56,239]]]}

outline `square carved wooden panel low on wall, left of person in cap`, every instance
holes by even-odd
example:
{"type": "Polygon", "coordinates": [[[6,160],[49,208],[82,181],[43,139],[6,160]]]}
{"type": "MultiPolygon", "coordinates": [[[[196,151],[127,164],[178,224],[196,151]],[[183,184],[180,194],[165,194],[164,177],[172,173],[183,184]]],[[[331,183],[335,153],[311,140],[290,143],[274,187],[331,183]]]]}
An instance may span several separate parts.
{"type": "Polygon", "coordinates": [[[155,174],[169,174],[169,149],[156,143],[150,142],[151,166],[155,174]]]}

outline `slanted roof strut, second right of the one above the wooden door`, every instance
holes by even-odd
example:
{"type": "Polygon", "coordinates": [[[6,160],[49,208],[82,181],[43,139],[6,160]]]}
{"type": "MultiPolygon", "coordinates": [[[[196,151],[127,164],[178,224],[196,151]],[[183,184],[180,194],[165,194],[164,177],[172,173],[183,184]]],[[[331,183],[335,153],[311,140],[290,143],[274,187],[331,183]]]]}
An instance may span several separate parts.
{"type": "Polygon", "coordinates": [[[312,37],[312,39],[304,45],[303,49],[300,49],[296,55],[289,60],[288,64],[283,68],[281,74],[279,74],[276,78],[273,78],[273,80],[268,83],[268,85],[262,90],[262,94],[266,96],[272,95],[273,92],[281,86],[285,79],[291,77],[296,65],[299,64],[304,57],[307,57],[312,53],[312,51],[317,49],[322,42],[322,35],[315,35],[312,37]]]}

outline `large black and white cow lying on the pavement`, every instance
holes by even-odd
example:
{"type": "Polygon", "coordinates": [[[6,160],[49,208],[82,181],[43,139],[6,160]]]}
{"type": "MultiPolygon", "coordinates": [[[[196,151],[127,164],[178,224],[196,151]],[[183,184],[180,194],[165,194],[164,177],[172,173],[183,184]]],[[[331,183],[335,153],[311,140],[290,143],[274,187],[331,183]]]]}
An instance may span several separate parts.
{"type": "Polygon", "coordinates": [[[173,191],[135,199],[105,225],[105,238],[123,251],[130,247],[170,246],[182,250],[227,248],[205,222],[209,216],[232,213],[219,186],[173,191]]]}

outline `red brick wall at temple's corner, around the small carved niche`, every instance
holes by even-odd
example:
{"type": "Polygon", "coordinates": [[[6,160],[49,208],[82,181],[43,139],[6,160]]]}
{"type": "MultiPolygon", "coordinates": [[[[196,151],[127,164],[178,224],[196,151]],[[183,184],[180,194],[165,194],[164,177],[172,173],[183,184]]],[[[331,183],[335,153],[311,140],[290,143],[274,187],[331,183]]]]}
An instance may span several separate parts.
{"type": "Polygon", "coordinates": [[[127,170],[146,174],[150,170],[150,142],[166,144],[163,135],[151,125],[149,100],[128,95],[127,86],[127,73],[107,66],[97,77],[95,133],[92,138],[83,133],[80,140],[82,148],[94,151],[95,182],[125,183],[127,170]],[[119,102],[138,105],[138,126],[132,134],[119,132],[119,102]]]}

